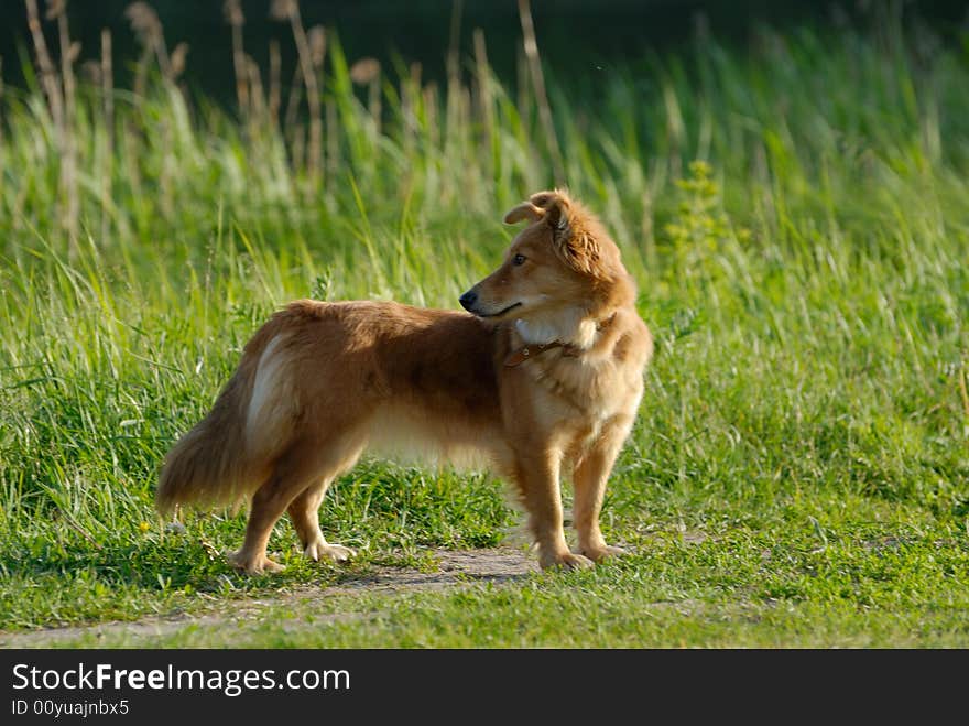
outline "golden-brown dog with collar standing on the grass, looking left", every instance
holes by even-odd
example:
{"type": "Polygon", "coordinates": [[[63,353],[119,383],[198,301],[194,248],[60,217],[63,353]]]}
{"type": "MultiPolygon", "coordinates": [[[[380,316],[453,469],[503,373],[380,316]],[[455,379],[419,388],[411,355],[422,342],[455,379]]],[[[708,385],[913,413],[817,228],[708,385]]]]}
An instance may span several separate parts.
{"type": "Polygon", "coordinates": [[[251,499],[244,541],[229,555],[250,574],[282,570],[266,543],[284,512],[307,557],[341,562],[353,552],[324,539],[318,509],[364,451],[477,457],[516,488],[543,568],[621,554],[599,514],[653,353],[634,281],[600,221],[565,191],[532,195],[504,221],[527,226],[460,296],[467,312],[301,300],[275,313],[208,415],[166,455],[159,510],[251,499]],[[563,474],[577,552],[564,532],[563,474]]]}

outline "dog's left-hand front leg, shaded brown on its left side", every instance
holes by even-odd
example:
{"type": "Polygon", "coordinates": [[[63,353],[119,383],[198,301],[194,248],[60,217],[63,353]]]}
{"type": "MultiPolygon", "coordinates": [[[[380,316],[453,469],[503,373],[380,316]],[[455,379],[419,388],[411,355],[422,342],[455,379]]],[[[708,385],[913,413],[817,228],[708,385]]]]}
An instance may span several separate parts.
{"type": "Polygon", "coordinates": [[[592,562],[569,551],[565,541],[558,452],[519,455],[515,478],[529,510],[529,528],[538,545],[538,564],[548,567],[588,567],[592,562]]]}

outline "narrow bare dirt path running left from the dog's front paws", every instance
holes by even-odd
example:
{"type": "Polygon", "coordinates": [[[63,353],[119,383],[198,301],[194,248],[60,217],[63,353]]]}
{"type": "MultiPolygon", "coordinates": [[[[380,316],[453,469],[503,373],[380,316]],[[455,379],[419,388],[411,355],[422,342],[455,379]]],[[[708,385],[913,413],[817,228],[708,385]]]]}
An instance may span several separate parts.
{"type": "MultiPolygon", "coordinates": [[[[537,572],[533,557],[521,550],[497,548],[492,550],[437,550],[434,553],[439,566],[437,572],[379,567],[373,572],[348,579],[330,587],[311,585],[290,589],[276,597],[262,597],[235,600],[231,613],[219,611],[203,615],[179,614],[172,617],[149,617],[131,622],[102,622],[91,626],[46,628],[29,632],[0,631],[0,648],[46,648],[79,638],[99,640],[124,636],[130,639],[152,639],[171,636],[184,628],[205,628],[232,624],[233,626],[255,621],[271,607],[288,606],[294,610],[312,607],[320,597],[353,593],[413,592],[460,587],[476,582],[509,582],[537,572]]],[[[318,616],[320,619],[342,620],[358,616],[341,613],[318,616]]]]}

